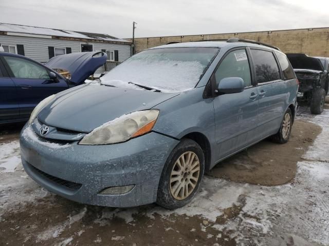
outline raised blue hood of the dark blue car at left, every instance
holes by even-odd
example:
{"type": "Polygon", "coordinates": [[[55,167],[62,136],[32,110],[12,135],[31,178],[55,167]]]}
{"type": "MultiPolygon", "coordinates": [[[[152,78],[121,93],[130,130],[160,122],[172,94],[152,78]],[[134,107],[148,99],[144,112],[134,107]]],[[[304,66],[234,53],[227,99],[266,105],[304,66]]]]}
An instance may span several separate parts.
{"type": "Polygon", "coordinates": [[[90,75],[103,66],[107,55],[104,52],[80,52],[52,57],[45,65],[51,69],[65,69],[70,72],[75,84],[82,84],[90,75]]]}

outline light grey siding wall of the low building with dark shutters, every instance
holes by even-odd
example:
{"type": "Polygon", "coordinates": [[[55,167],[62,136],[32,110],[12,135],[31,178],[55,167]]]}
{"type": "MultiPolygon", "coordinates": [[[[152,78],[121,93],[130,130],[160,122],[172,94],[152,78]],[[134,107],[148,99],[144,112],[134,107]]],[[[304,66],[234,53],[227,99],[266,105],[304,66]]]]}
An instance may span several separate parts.
{"type": "MultiPolygon", "coordinates": [[[[86,44],[86,42],[79,42],[75,40],[61,40],[52,38],[36,38],[36,37],[23,37],[23,36],[7,36],[0,35],[1,45],[24,45],[25,56],[32,58],[40,63],[46,63],[49,60],[48,46],[55,48],[70,47],[72,53],[80,52],[80,44],[86,44]]],[[[106,50],[118,50],[119,61],[124,61],[131,55],[131,46],[109,43],[96,43],[88,42],[88,44],[94,45],[94,51],[106,50]]],[[[96,73],[104,71],[104,67],[100,67],[96,73]]]]}

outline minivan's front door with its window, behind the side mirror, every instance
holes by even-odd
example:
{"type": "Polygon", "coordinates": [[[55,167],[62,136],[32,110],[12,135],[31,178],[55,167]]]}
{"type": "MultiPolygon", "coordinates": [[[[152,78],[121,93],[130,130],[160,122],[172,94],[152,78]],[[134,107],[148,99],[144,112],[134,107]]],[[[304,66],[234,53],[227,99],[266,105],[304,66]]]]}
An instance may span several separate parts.
{"type": "Polygon", "coordinates": [[[241,77],[245,90],[214,98],[217,160],[255,141],[258,89],[251,85],[249,58],[245,49],[229,52],[215,71],[216,85],[226,77],[241,77]]]}

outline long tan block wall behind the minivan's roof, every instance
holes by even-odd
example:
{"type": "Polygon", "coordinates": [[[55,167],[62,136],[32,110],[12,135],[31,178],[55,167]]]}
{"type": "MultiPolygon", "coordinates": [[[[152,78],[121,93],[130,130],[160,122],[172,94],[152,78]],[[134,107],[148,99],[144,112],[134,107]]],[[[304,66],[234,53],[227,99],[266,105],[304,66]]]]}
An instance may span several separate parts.
{"type": "MultiPolygon", "coordinates": [[[[285,53],[306,53],[310,56],[329,57],[329,28],[313,28],[264,32],[224,33],[166,37],[136,38],[136,52],[165,45],[170,42],[191,42],[196,40],[228,39],[239,37],[257,40],[279,47],[285,53]]],[[[131,39],[129,39],[131,40],[131,39]]]]}

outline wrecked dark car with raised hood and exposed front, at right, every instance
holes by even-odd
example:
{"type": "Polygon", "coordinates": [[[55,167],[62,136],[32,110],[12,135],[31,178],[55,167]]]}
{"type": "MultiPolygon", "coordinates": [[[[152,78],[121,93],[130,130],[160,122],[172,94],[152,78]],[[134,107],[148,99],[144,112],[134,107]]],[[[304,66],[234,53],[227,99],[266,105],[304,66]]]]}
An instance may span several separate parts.
{"type": "Polygon", "coordinates": [[[328,71],[319,58],[299,53],[287,57],[300,83],[298,100],[307,103],[312,114],[321,114],[329,88],[328,71]]]}

